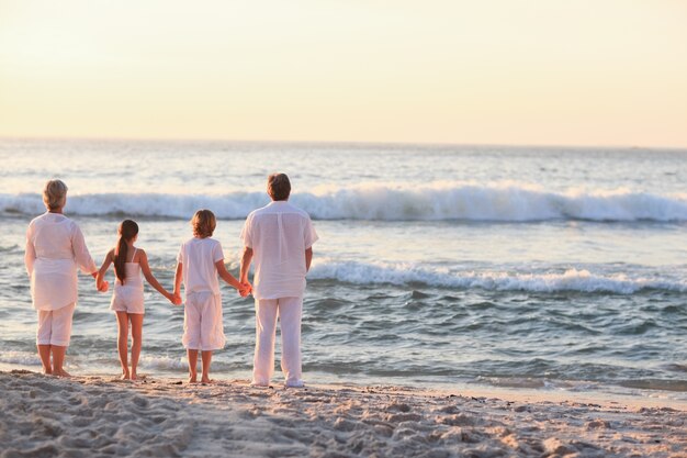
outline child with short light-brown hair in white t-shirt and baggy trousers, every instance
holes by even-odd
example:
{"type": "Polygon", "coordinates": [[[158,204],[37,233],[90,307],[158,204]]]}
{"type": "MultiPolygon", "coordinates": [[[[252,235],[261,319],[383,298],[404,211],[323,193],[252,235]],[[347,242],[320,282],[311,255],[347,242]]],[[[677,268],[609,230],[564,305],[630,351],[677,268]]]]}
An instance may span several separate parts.
{"type": "Polygon", "coordinates": [[[198,353],[202,353],[203,375],[201,383],[210,383],[210,364],[213,350],[224,348],[224,323],[222,321],[222,294],[217,275],[243,297],[250,291],[241,286],[224,266],[219,242],[212,238],[217,225],[210,210],[199,210],[191,220],[193,238],[184,242],[177,257],[174,300],[181,303],[181,280],[187,295],[183,310],[183,337],[181,343],[189,357],[189,382],[198,378],[198,353]]]}

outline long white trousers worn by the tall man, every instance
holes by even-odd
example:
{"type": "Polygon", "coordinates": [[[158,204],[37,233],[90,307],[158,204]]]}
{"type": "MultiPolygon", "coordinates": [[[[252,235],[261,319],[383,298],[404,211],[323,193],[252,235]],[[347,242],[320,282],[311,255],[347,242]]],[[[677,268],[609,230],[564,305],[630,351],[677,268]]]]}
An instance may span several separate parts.
{"type": "Polygon", "coordinates": [[[268,386],[274,373],[277,315],[281,322],[281,370],[286,387],[303,387],[301,315],[303,298],[256,299],[256,353],[252,384],[268,386]]]}

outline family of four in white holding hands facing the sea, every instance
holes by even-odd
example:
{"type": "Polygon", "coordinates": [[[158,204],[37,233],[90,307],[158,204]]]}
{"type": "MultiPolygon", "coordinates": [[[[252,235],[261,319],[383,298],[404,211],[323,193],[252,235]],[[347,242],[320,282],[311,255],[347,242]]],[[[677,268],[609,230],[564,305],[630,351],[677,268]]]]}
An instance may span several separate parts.
{"type": "Polygon", "coordinates": [[[143,278],[172,304],[184,305],[181,342],[189,359],[189,381],[198,382],[201,354],[201,383],[210,383],[212,353],[224,348],[224,322],[218,278],[238,290],[252,293],[256,308],[254,386],[269,386],[274,371],[277,317],[281,322],[281,367],[286,387],[303,387],[301,364],[301,317],[305,275],[313,258],[317,233],[309,216],[288,202],[291,182],[284,174],[268,177],[271,202],[252,213],[241,231],[244,252],[239,279],[227,271],[218,241],[212,238],[216,219],[199,210],[191,219],[193,237],[182,243],[177,256],[173,292],[167,291],[150,271],[144,249],[137,248],[138,225],[125,220],[119,225],[119,241],[97,268],[79,226],[63,214],[67,186],[50,180],[43,190],[47,212],[29,224],[25,265],[31,278],[33,306],[37,311],[36,345],[46,375],[69,377],[64,359],[71,336],[77,303],[77,269],[95,278],[99,291],[106,292],[105,275],[114,265],[115,284],[110,310],[117,320],[117,350],[122,378],[136,380],[143,343],[145,314],[143,278]],[[254,282],[248,280],[254,265],[254,282]],[[185,301],[181,298],[183,282],[185,301]],[[131,370],[128,333],[131,329],[131,370]],[[52,357],[52,360],[50,360],[52,357]]]}

